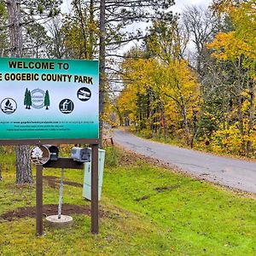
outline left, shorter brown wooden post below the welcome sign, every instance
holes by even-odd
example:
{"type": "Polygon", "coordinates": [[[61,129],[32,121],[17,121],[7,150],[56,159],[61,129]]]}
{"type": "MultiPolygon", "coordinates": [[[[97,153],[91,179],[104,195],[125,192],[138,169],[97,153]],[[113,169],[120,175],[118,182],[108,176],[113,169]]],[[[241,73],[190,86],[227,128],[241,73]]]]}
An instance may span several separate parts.
{"type": "Polygon", "coordinates": [[[36,230],[37,236],[43,235],[43,166],[37,165],[36,182],[36,230]]]}

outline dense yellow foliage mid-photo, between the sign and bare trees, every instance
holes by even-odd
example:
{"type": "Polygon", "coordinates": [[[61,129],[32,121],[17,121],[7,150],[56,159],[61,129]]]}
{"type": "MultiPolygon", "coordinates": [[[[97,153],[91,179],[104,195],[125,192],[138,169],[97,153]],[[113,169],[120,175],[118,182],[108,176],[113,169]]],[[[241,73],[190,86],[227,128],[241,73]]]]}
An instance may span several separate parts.
{"type": "Polygon", "coordinates": [[[151,109],[148,125],[159,126],[163,111],[166,124],[172,129],[175,127],[175,132],[183,131],[184,118],[191,122],[195,112],[200,111],[200,86],[187,61],[126,59],[122,63],[122,73],[125,89],[119,96],[119,108],[136,116],[142,106],[139,102],[142,97],[144,108],[151,109]]]}

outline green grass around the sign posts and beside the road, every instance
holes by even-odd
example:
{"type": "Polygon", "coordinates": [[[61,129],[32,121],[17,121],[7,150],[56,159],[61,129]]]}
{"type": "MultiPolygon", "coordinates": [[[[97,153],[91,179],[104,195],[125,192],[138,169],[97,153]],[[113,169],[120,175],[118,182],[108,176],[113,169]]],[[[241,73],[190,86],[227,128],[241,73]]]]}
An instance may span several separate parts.
{"type": "MultiPolygon", "coordinates": [[[[1,160],[9,169],[0,182],[0,215],[35,205],[35,185],[15,186],[13,160],[1,160]]],[[[34,218],[0,219],[0,255],[256,255],[255,200],[116,148],[108,148],[106,163],[100,207],[108,214],[98,236],[90,235],[84,215],[73,215],[72,229],[44,229],[42,237],[35,236],[34,218]]],[[[65,179],[82,183],[83,172],[67,170],[65,179]]],[[[65,185],[64,202],[90,205],[81,193],[65,185]]],[[[45,182],[44,204],[57,202],[58,189],[45,182]]]]}

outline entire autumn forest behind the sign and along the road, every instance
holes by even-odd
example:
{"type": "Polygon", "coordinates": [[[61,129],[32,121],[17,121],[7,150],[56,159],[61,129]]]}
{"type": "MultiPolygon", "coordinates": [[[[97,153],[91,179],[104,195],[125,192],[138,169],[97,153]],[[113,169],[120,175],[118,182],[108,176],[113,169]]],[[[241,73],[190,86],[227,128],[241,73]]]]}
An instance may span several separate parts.
{"type": "Polygon", "coordinates": [[[253,0],[180,15],[172,0],[73,0],[68,14],[61,3],[1,0],[1,56],[16,55],[17,40],[23,57],[100,59],[101,128],[129,125],[144,137],[254,157],[253,0]]]}

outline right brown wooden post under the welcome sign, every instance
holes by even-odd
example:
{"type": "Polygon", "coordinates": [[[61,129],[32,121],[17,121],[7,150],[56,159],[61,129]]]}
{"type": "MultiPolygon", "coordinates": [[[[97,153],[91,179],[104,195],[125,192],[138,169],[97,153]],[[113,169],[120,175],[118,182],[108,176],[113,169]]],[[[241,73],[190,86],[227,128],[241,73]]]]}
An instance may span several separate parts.
{"type": "Polygon", "coordinates": [[[98,202],[98,148],[97,144],[91,145],[91,233],[99,233],[99,202],[98,202]]]}

